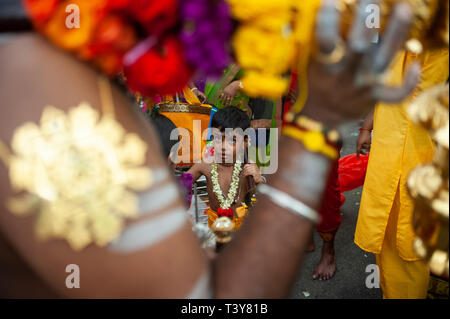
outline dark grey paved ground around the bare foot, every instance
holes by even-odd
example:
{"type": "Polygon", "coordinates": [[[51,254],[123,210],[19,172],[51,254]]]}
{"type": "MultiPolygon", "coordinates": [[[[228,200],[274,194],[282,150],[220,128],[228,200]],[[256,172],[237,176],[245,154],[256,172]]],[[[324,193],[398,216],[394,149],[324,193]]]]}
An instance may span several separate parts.
{"type": "MultiPolygon", "coordinates": [[[[344,147],[342,156],[355,153],[355,144],[358,136],[358,125],[352,125],[344,130],[344,147]]],[[[345,193],[347,198],[342,207],[342,225],[336,236],[337,272],[334,278],[328,281],[312,279],[322,248],[322,241],[314,234],[316,250],[306,255],[299,270],[298,279],[292,289],[290,298],[293,299],[335,299],[381,298],[381,289],[366,288],[365,281],[369,275],[365,272],[367,265],[375,264],[375,257],[366,253],[353,242],[356,221],[358,217],[361,189],[345,193]]]]}

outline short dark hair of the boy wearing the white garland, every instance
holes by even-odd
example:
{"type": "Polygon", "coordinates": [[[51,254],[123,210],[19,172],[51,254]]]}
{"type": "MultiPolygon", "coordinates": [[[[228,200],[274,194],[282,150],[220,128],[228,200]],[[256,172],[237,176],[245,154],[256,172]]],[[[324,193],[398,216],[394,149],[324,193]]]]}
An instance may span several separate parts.
{"type": "Polygon", "coordinates": [[[245,131],[250,127],[250,119],[244,111],[239,110],[237,107],[229,106],[214,114],[211,127],[217,128],[221,132],[224,132],[226,128],[241,128],[245,131]]]}

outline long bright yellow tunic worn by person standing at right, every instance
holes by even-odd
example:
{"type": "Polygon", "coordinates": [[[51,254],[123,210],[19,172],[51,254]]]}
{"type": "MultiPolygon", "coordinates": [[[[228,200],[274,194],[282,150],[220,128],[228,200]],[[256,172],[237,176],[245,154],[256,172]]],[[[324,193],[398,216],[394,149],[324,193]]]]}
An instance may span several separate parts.
{"type": "Polygon", "coordinates": [[[423,64],[422,81],[416,92],[400,106],[380,104],[376,107],[374,136],[355,233],[355,243],[359,247],[380,254],[389,213],[399,189],[398,224],[391,231],[396,235],[398,255],[408,261],[419,258],[413,250],[413,202],[406,181],[413,168],[432,160],[434,146],[428,133],[408,120],[405,108],[419,92],[444,83],[449,67],[448,50],[431,51],[420,57],[401,53],[393,66],[391,84],[403,82],[404,71],[415,58],[423,64]]]}

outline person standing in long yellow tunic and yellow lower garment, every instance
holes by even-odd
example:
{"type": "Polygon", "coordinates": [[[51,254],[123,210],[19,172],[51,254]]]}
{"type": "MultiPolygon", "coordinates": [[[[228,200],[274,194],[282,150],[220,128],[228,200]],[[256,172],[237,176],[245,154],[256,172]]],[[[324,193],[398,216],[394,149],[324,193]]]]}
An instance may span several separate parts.
{"type": "Polygon", "coordinates": [[[401,105],[377,105],[364,123],[357,143],[360,153],[361,148],[370,145],[373,128],[355,243],[376,255],[386,299],[425,298],[429,281],[429,268],[413,249],[414,204],[406,181],[413,168],[432,161],[434,145],[428,133],[408,119],[406,107],[421,91],[447,81],[449,52],[434,50],[420,56],[400,53],[394,61],[390,83],[403,83],[408,64],[417,59],[423,65],[423,73],[411,98],[401,105]]]}

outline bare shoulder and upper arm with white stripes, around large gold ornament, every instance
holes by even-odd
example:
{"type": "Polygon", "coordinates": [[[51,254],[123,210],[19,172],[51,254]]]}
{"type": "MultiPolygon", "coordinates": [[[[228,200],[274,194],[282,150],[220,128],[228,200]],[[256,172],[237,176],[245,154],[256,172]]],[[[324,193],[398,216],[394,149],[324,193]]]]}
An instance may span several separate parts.
{"type": "MultiPolygon", "coordinates": [[[[54,48],[38,35],[17,36],[0,45],[0,70],[0,96],[2,97],[0,141],[9,148],[10,152],[13,152],[11,141],[16,134],[16,129],[25,123],[34,123],[35,127],[40,127],[40,119],[48,106],[68,114],[71,109],[85,102],[99,115],[102,114],[100,83],[108,82],[99,81],[102,79],[99,72],[70,54],[54,48]]],[[[47,241],[36,240],[35,223],[38,211],[35,214],[20,217],[0,211],[0,229],[11,246],[23,256],[24,262],[62,295],[181,297],[178,294],[180,292],[187,294],[191,290],[199,273],[205,271],[207,264],[197,239],[191,231],[191,226],[184,218],[181,197],[174,192],[170,193],[164,207],[154,206],[151,201],[145,202],[146,198],[154,198],[160,192],[173,190],[170,184],[174,181],[169,178],[166,161],[161,155],[160,145],[150,122],[118,86],[110,85],[110,87],[115,115],[114,128],[130,134],[133,141],[140,138],[139,145],[146,145],[145,163],[139,164],[140,167],[151,168],[154,172],[165,171],[165,174],[160,174],[164,180],[146,189],[147,197],[139,197],[139,204],[142,203],[138,205],[138,208],[142,210],[137,212],[139,218],[133,221],[123,219],[124,229],[119,235],[133,233],[136,229],[142,229],[141,227],[153,227],[151,229],[168,230],[166,234],[170,236],[161,232],[158,241],[153,239],[150,241],[150,238],[147,238],[149,241],[142,243],[142,247],[132,254],[125,255],[125,252],[117,253],[110,246],[90,245],[82,251],[75,251],[63,240],[54,238],[49,238],[47,241]],[[162,188],[163,186],[166,187],[162,188]],[[176,222],[171,222],[173,220],[176,222]],[[163,227],[156,227],[155,225],[160,225],[158,223],[162,223],[161,221],[164,221],[163,227]],[[173,268],[166,267],[166,263],[158,262],[160,260],[168,261],[173,268]],[[80,269],[83,269],[85,284],[81,289],[67,291],[67,287],[61,284],[65,282],[64,270],[67,265],[75,261],[80,269]],[[185,264],[189,267],[181,266],[185,264]],[[186,273],[180,272],[179,276],[174,276],[171,272],[171,269],[181,268],[185,269],[186,273]],[[123,275],[123,269],[127,269],[126,276],[123,275]],[[116,283],[105,284],[102,278],[116,278],[116,283]],[[181,290],[177,288],[179,285],[182,285],[181,290]]],[[[32,143],[30,140],[29,144],[32,145],[32,143]]],[[[91,157],[88,156],[88,158],[91,157]]],[[[100,157],[100,159],[105,158],[100,157]]],[[[98,166],[102,167],[102,165],[98,166]]],[[[65,167],[57,167],[53,171],[64,172],[65,167]]],[[[136,174],[130,175],[131,178],[136,178],[136,174]]],[[[137,178],[135,181],[139,182],[137,178]]],[[[128,191],[126,194],[132,195],[128,191]]],[[[0,201],[6,203],[8,199],[16,195],[10,186],[8,167],[0,161],[0,201]]],[[[127,200],[129,198],[127,197],[127,200]]],[[[132,202],[135,201],[133,198],[132,196],[132,202]]],[[[6,210],[4,206],[1,209],[6,210]]],[[[125,210],[128,211],[128,208],[125,210]]],[[[156,231],[148,233],[152,233],[153,238],[156,238],[156,231]]],[[[121,236],[119,239],[126,242],[127,238],[121,236]]]]}

